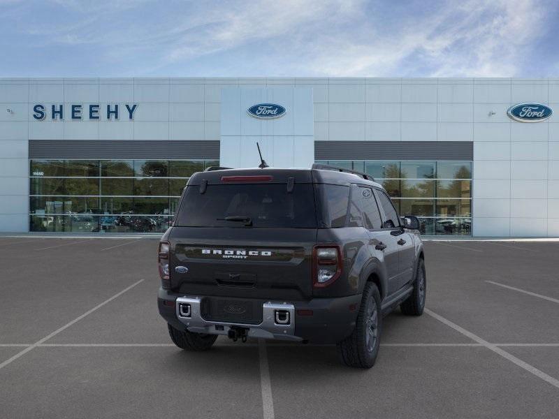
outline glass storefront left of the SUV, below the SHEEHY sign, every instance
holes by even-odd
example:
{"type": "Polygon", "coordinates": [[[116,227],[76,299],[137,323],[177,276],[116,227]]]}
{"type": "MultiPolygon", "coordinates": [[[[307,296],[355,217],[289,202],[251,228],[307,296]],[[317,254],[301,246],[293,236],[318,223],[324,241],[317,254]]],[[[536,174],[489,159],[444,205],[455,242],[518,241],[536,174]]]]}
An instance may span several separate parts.
{"type": "Polygon", "coordinates": [[[31,160],[29,230],[163,233],[182,189],[215,160],[31,160]]]}

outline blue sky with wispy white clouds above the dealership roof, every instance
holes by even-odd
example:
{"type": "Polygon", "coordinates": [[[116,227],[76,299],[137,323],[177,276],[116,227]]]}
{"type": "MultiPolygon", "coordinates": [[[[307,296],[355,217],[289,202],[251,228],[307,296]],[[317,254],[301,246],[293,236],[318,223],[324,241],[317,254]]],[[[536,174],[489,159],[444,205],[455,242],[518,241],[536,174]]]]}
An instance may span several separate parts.
{"type": "Polygon", "coordinates": [[[0,0],[0,77],[559,77],[559,1],[0,0]]]}

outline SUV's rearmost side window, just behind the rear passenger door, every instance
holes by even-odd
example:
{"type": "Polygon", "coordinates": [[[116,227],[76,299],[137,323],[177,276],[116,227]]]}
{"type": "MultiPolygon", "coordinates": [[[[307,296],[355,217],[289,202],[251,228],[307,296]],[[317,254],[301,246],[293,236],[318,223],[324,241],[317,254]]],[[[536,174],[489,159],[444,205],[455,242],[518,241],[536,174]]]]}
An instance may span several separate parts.
{"type": "Polygon", "coordinates": [[[316,190],[320,203],[320,226],[326,228],[345,227],[349,186],[318,184],[316,190]]]}

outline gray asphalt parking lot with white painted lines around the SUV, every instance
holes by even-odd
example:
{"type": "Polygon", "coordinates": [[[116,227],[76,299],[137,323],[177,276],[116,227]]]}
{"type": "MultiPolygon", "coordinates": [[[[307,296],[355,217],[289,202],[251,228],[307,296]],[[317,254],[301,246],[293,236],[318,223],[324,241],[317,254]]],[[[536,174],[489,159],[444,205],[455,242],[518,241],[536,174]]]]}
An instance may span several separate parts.
{"type": "Polygon", "coordinates": [[[0,418],[558,418],[559,242],[426,242],[427,310],[370,370],[334,346],[185,353],[157,240],[0,237],[0,418]]]}

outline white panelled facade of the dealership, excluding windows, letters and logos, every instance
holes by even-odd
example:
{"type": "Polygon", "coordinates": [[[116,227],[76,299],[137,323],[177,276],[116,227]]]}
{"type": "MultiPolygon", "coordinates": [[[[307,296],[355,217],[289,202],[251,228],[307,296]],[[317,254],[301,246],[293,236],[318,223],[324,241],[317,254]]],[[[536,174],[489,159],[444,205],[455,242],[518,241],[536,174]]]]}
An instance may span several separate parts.
{"type": "MultiPolygon", "coordinates": [[[[559,79],[0,79],[0,231],[29,229],[29,140],[221,141],[220,160],[308,166],[319,141],[473,142],[474,236],[559,236],[559,79]],[[252,102],[286,117],[252,120],[252,102]],[[543,122],[507,117],[543,103],[543,122]],[[133,119],[34,119],[34,105],[137,103],[133,119]]],[[[356,155],[353,159],[361,159],[356,155]]]]}

